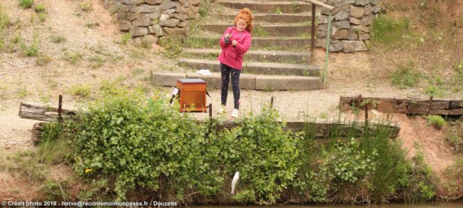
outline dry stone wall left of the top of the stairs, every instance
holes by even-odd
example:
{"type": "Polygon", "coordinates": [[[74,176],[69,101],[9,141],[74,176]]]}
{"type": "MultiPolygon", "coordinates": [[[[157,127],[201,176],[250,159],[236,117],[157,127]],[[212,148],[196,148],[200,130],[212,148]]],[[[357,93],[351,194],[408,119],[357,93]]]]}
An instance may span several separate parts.
{"type": "MultiPolygon", "coordinates": [[[[190,35],[189,21],[199,17],[201,0],[105,0],[118,28],[133,38],[190,35]]],[[[157,40],[157,38],[156,38],[157,40]]]]}

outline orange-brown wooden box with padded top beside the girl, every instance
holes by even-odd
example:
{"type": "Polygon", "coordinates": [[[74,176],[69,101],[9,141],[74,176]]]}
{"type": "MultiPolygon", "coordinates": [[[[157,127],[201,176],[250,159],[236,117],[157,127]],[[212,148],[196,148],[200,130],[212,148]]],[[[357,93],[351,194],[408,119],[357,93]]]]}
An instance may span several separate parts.
{"type": "Polygon", "coordinates": [[[179,79],[177,89],[180,90],[180,111],[207,111],[206,81],[202,79],[179,79]],[[194,104],[195,108],[191,108],[194,104]]]}

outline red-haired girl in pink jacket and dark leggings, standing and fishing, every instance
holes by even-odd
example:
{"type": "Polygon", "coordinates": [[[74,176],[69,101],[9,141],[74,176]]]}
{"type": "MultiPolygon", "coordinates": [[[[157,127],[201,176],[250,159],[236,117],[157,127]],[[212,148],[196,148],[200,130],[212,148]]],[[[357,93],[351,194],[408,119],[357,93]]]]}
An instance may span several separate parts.
{"type": "Polygon", "coordinates": [[[222,87],[220,88],[222,106],[219,113],[225,112],[227,104],[228,83],[232,76],[232,89],[234,98],[234,110],[232,118],[239,116],[240,109],[240,87],[239,78],[243,64],[243,55],[251,46],[251,33],[254,25],[254,15],[249,8],[243,8],[235,17],[234,26],[227,28],[227,31],[220,39],[222,52],[218,60],[220,61],[220,73],[222,74],[222,87]]]}

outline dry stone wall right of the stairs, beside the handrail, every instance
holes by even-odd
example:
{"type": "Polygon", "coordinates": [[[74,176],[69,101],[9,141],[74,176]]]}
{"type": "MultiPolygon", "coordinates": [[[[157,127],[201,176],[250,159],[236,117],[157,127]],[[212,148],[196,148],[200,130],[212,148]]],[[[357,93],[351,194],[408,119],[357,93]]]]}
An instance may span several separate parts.
{"type": "MultiPolygon", "coordinates": [[[[324,0],[332,11],[330,51],[367,51],[373,19],[381,10],[382,0],[324,0]]],[[[326,49],[329,11],[320,10],[316,46],[326,49]]]]}

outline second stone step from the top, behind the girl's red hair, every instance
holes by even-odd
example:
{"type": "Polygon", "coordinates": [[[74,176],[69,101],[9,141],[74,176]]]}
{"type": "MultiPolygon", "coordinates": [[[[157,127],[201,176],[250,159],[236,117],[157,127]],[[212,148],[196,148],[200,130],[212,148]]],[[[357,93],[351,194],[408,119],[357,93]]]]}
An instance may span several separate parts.
{"type": "MultiPolygon", "coordinates": [[[[236,14],[231,15],[211,15],[211,19],[220,19],[222,21],[233,21],[238,15],[236,14]]],[[[259,22],[307,22],[311,21],[311,14],[256,14],[254,15],[254,21],[259,22]]]]}

